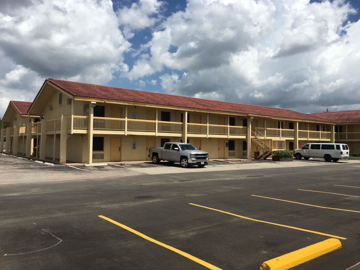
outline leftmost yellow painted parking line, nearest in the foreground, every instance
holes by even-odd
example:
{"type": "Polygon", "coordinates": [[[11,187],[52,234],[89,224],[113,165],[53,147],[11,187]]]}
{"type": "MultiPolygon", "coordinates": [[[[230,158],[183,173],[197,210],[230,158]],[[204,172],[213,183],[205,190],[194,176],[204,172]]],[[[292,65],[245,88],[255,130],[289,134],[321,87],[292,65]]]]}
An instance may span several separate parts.
{"type": "Polygon", "coordinates": [[[153,239],[153,238],[148,237],[148,236],[145,235],[145,234],[140,233],[139,231],[136,231],[136,230],[134,230],[134,229],[129,228],[128,226],[125,226],[125,225],[123,225],[123,224],[121,224],[121,223],[119,223],[119,222],[116,222],[116,221],[114,221],[114,220],[112,220],[112,219],[109,219],[108,217],[105,217],[105,216],[102,216],[102,215],[100,215],[100,216],[98,216],[98,217],[101,217],[102,219],[107,220],[107,221],[109,221],[109,222],[111,222],[111,223],[113,223],[113,224],[115,224],[115,225],[118,225],[118,226],[120,226],[121,228],[130,231],[131,233],[134,233],[134,234],[136,234],[136,235],[139,235],[140,237],[142,237],[142,238],[144,238],[144,239],[146,239],[146,240],[149,240],[150,242],[153,242],[153,243],[155,243],[155,244],[158,244],[159,246],[165,247],[165,248],[167,248],[167,249],[170,249],[171,251],[174,251],[174,252],[176,252],[176,253],[178,253],[178,254],[180,254],[180,255],[183,255],[184,257],[186,257],[186,258],[188,258],[188,259],[190,259],[190,260],[193,260],[194,262],[197,262],[198,264],[201,264],[201,265],[203,265],[203,266],[205,266],[205,267],[207,267],[207,268],[209,268],[209,269],[221,270],[219,267],[213,266],[212,264],[209,264],[209,263],[206,262],[206,261],[200,260],[199,258],[194,257],[194,256],[190,255],[189,253],[186,253],[186,252],[184,252],[184,251],[181,251],[181,250],[179,250],[179,249],[177,249],[177,248],[174,248],[174,247],[168,246],[167,244],[161,243],[161,242],[159,242],[159,241],[157,241],[157,240],[155,240],[155,239],[153,239]]]}

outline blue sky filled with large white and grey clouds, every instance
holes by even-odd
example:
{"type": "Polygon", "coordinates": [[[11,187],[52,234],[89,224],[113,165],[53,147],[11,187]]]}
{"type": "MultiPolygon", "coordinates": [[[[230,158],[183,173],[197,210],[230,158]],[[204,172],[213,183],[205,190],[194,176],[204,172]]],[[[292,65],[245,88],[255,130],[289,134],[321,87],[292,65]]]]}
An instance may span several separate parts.
{"type": "Polygon", "coordinates": [[[45,78],[360,109],[359,0],[1,0],[0,115],[45,78]]]}

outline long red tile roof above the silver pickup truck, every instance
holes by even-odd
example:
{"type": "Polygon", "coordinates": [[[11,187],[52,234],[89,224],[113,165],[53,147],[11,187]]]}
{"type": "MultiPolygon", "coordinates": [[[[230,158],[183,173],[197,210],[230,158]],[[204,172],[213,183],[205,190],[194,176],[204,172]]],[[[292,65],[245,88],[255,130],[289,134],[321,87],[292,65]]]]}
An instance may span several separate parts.
{"type": "Polygon", "coordinates": [[[192,98],[188,96],[154,93],[95,84],[86,84],[82,82],[56,80],[51,78],[48,79],[48,81],[73,96],[123,100],[129,102],[141,102],[158,105],[171,105],[176,107],[193,109],[207,109],[214,111],[257,114],[262,116],[295,118],[310,121],[324,121],[321,118],[309,114],[290,111],[288,109],[192,98]]]}

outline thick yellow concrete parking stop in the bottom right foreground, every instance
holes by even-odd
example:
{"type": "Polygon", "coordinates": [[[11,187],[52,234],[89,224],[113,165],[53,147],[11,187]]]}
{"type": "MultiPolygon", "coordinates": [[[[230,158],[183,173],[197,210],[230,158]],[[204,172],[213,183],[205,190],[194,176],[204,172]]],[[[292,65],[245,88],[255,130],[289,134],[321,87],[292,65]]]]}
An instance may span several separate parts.
{"type": "Polygon", "coordinates": [[[341,247],[339,239],[330,238],[264,262],[260,270],[285,270],[341,247]]]}

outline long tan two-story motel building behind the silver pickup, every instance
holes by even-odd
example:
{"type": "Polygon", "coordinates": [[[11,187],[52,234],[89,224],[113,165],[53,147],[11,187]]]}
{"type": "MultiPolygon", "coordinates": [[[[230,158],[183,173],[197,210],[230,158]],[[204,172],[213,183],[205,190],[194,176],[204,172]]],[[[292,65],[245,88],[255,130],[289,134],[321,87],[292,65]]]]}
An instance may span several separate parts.
{"type": "Polygon", "coordinates": [[[316,115],[55,79],[45,80],[26,115],[14,104],[0,150],[59,163],[142,161],[167,141],[191,143],[210,158],[266,158],[339,138],[336,122],[316,115]]]}

